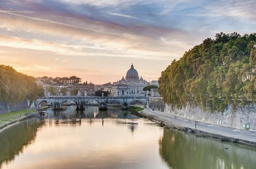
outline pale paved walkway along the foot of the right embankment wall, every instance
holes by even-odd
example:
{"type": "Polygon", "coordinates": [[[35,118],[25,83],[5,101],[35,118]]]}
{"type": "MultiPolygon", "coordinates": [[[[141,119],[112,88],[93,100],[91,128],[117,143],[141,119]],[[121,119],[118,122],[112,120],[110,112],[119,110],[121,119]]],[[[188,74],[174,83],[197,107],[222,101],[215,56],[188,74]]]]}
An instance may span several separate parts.
{"type": "MultiPolygon", "coordinates": [[[[163,113],[157,110],[152,111],[152,109],[147,109],[147,108],[145,108],[141,112],[145,115],[158,118],[162,121],[166,121],[172,124],[178,124],[184,127],[195,129],[195,120],[182,118],[179,116],[171,115],[169,113],[163,113]]],[[[196,129],[256,142],[256,132],[253,132],[253,131],[236,129],[231,127],[224,127],[224,126],[204,123],[200,121],[197,121],[196,129]]]]}

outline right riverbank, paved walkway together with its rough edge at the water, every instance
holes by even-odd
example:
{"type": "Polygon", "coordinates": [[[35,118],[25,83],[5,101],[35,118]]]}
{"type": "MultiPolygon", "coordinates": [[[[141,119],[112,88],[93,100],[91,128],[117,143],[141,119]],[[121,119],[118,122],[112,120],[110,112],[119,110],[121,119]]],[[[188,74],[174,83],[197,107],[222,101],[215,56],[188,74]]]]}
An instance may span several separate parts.
{"type": "Polygon", "coordinates": [[[203,136],[219,138],[222,141],[231,141],[240,144],[256,146],[256,132],[253,131],[224,127],[200,121],[195,123],[194,120],[171,115],[169,113],[163,113],[157,110],[152,111],[152,109],[147,108],[139,111],[138,113],[143,115],[145,118],[157,121],[178,130],[192,131],[203,136]]]}

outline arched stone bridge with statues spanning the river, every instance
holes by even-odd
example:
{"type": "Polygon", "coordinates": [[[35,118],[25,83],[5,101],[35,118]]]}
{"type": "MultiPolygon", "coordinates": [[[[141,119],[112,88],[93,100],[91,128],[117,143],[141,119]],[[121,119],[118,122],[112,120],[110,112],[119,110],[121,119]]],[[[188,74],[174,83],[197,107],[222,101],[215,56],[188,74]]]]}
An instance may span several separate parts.
{"type": "Polygon", "coordinates": [[[99,105],[106,106],[110,104],[110,101],[118,101],[122,106],[129,106],[133,101],[140,101],[144,107],[148,106],[148,97],[96,97],[96,96],[50,96],[50,97],[38,97],[35,102],[35,106],[39,107],[41,102],[47,101],[47,105],[53,105],[55,108],[62,106],[64,102],[67,102],[67,106],[70,102],[75,102],[76,107],[83,107],[85,104],[96,102],[99,105]]]}

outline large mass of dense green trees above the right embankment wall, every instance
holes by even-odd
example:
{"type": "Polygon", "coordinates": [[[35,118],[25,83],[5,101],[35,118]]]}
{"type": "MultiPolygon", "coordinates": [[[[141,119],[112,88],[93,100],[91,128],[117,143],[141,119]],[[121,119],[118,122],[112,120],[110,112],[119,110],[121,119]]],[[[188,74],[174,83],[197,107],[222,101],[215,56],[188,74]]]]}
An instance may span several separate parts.
{"type": "Polygon", "coordinates": [[[216,34],[173,60],[159,78],[159,93],[172,108],[187,104],[208,105],[223,111],[239,100],[256,99],[256,34],[216,34]]]}

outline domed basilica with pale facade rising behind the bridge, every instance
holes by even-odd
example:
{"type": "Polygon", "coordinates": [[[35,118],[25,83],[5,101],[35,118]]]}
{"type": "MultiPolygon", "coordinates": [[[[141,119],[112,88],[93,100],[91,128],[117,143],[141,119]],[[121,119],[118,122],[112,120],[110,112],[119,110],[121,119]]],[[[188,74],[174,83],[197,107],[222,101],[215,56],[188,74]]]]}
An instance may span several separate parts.
{"type": "Polygon", "coordinates": [[[145,79],[139,77],[139,74],[134,65],[131,64],[131,69],[126,73],[126,76],[121,80],[114,82],[112,87],[112,96],[145,96],[143,88],[150,85],[145,79]]]}

